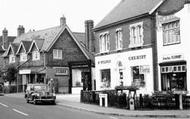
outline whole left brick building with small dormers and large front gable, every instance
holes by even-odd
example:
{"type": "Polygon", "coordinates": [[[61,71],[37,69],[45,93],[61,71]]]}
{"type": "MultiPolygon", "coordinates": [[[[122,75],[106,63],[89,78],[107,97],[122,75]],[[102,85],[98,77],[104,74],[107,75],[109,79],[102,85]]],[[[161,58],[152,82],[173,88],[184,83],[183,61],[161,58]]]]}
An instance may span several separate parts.
{"type": "MultiPolygon", "coordinates": [[[[88,23],[93,26],[93,22],[88,23]]],[[[86,44],[92,39],[85,39],[85,33],[72,32],[64,16],[56,27],[28,33],[23,26],[17,30],[18,36],[9,44],[4,60],[7,66],[18,69],[17,82],[23,89],[28,83],[47,83],[50,78],[55,80],[58,93],[92,89],[94,57],[87,47],[91,45],[86,44]]]]}

